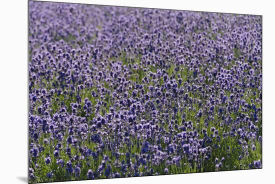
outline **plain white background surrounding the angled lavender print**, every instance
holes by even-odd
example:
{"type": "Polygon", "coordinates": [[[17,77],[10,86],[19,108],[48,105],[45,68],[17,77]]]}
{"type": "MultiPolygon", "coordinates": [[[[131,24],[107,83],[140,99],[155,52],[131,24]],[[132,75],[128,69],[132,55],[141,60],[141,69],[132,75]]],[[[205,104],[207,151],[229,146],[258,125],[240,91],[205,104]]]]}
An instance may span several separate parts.
{"type": "MultiPolygon", "coordinates": [[[[274,12],[263,0],[54,0],[263,15],[263,168],[58,183],[264,183],[274,167],[274,12]]],[[[27,0],[0,2],[0,183],[27,177],[27,0]]]]}

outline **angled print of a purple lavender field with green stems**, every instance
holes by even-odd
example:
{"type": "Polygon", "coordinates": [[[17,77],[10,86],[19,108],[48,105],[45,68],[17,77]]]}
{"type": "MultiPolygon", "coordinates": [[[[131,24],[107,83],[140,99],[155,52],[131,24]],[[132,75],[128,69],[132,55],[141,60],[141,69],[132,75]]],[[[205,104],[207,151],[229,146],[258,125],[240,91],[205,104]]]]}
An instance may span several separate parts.
{"type": "Polygon", "coordinates": [[[29,1],[29,182],[261,168],[261,16],[29,1]]]}

